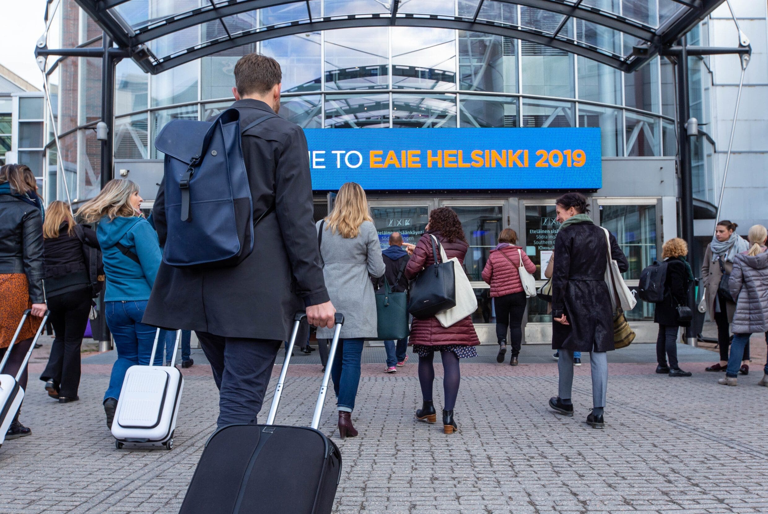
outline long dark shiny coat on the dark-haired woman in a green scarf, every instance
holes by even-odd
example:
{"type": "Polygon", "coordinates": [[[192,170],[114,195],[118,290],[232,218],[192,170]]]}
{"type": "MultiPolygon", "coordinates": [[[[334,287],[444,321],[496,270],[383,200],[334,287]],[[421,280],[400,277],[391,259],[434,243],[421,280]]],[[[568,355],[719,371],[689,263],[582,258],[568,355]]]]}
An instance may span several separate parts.
{"type": "MultiPolygon", "coordinates": [[[[607,241],[601,227],[591,223],[570,225],[554,240],[552,317],[568,318],[570,325],[552,321],[552,348],[580,352],[614,350],[611,297],[604,280],[607,241]]],[[[611,257],[622,273],[627,257],[611,234],[611,257]]]]}

